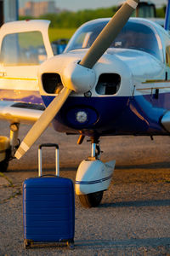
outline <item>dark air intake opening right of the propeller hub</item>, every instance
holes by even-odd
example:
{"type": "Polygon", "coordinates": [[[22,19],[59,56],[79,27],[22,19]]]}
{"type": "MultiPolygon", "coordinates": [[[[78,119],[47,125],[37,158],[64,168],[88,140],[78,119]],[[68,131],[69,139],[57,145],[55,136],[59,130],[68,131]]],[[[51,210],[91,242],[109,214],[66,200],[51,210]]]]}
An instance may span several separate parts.
{"type": "Polygon", "coordinates": [[[121,77],[118,73],[102,73],[99,76],[96,92],[99,95],[114,95],[119,90],[121,77]]]}

